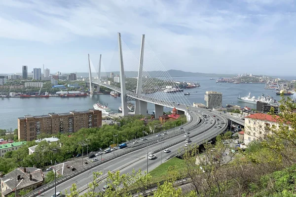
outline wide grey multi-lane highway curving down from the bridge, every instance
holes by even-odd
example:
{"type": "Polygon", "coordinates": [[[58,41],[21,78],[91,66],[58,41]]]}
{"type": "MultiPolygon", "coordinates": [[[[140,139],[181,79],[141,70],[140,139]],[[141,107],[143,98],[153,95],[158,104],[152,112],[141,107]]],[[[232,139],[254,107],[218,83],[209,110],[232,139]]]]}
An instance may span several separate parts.
{"type": "MultiPolygon", "coordinates": [[[[180,108],[180,106],[178,106],[178,108],[180,108]]],[[[197,108],[189,107],[189,110],[196,111],[197,108]]],[[[202,111],[204,111],[204,110],[202,110],[202,111]]],[[[200,141],[200,140],[202,140],[204,138],[207,138],[207,137],[213,135],[213,133],[216,133],[216,132],[219,131],[218,128],[213,128],[213,126],[216,125],[215,124],[215,118],[220,118],[221,126],[226,127],[226,124],[225,124],[226,119],[224,119],[221,115],[215,114],[216,117],[214,118],[213,113],[210,113],[208,111],[204,111],[204,113],[209,114],[211,116],[208,119],[213,119],[214,120],[213,124],[209,124],[209,123],[208,124],[203,124],[202,126],[190,131],[189,136],[193,136],[194,134],[197,134],[199,132],[202,132],[204,130],[209,129],[208,131],[203,132],[203,133],[201,133],[201,134],[199,134],[199,135],[197,135],[195,137],[191,137],[191,141],[192,141],[191,143],[198,142],[198,141],[200,141]]],[[[192,118],[194,120],[198,120],[199,119],[198,117],[201,114],[191,112],[190,115],[192,116],[192,118]]],[[[204,121],[204,120],[202,120],[202,121],[204,121]]],[[[209,122],[209,121],[207,121],[207,122],[209,122]]],[[[187,126],[187,127],[189,127],[189,126],[187,126]]],[[[186,127],[184,127],[184,130],[186,130],[186,127]]],[[[182,130],[182,131],[184,132],[184,130],[182,130]]],[[[180,140],[185,140],[184,134],[185,133],[182,133],[179,136],[172,137],[172,138],[162,142],[162,147],[170,145],[170,144],[172,144],[174,142],[178,142],[180,140]]],[[[151,140],[151,136],[149,138],[151,140]]],[[[157,137],[155,137],[155,141],[156,141],[156,139],[157,139],[157,137]]],[[[139,142],[139,143],[141,143],[141,142],[139,142]]],[[[170,156],[171,154],[174,154],[179,149],[184,148],[184,145],[185,145],[185,141],[180,142],[177,145],[169,147],[169,149],[171,150],[170,153],[164,153],[162,151],[162,153],[161,153],[162,154],[162,162],[165,162],[166,158],[168,156],[170,156]]],[[[104,164],[96,166],[96,167],[94,167],[94,168],[92,168],[92,169],[90,169],[90,170],[88,170],[86,172],[83,172],[83,173],[75,176],[72,179],[69,179],[69,180],[63,182],[60,185],[57,185],[56,191],[57,192],[60,191],[60,192],[65,193],[65,190],[68,190],[68,191],[70,190],[73,183],[75,183],[77,185],[77,188],[79,190],[85,189],[87,184],[89,182],[91,182],[92,173],[94,171],[102,171],[104,174],[106,174],[109,170],[110,171],[112,171],[112,170],[120,170],[121,173],[131,173],[132,169],[138,170],[138,169],[141,168],[143,171],[146,171],[146,169],[147,169],[147,151],[148,152],[154,152],[155,150],[157,150],[159,148],[160,148],[160,143],[156,143],[154,145],[148,146],[147,148],[142,148],[142,149],[136,150],[134,152],[128,153],[128,154],[120,156],[120,157],[118,157],[118,158],[116,158],[114,160],[111,160],[109,162],[106,162],[104,164]],[[129,164],[129,165],[125,166],[125,164],[129,164]]],[[[116,150],[116,151],[123,151],[123,150],[116,150]]],[[[115,154],[116,154],[116,151],[115,151],[115,154]]],[[[113,154],[113,153],[108,153],[108,154],[113,154]]],[[[104,154],[102,157],[108,157],[108,154],[104,154]]],[[[155,153],[155,155],[157,157],[156,159],[148,161],[148,171],[150,171],[150,170],[154,169],[155,167],[157,167],[158,165],[160,165],[160,152],[155,153]]],[[[98,156],[98,157],[100,157],[100,156],[98,156]]],[[[99,189],[102,189],[103,185],[104,185],[104,183],[102,183],[100,185],[99,189]]],[[[45,192],[41,193],[41,195],[44,196],[44,197],[51,197],[53,194],[54,194],[54,188],[51,188],[48,191],[45,191],[45,192]]],[[[83,194],[83,192],[81,194],[83,194]]]]}

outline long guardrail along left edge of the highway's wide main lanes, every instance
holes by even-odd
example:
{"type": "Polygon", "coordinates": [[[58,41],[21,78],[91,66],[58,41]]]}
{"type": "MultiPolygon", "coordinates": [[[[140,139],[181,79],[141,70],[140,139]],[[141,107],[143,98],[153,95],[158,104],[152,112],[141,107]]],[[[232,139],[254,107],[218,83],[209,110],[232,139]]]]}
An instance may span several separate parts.
{"type": "MultiPolygon", "coordinates": [[[[192,120],[191,120],[191,121],[192,121],[192,120]]],[[[199,122],[197,125],[193,125],[193,126],[187,128],[187,130],[188,130],[188,131],[191,131],[191,130],[193,130],[193,129],[199,127],[201,123],[202,123],[202,122],[199,122]]],[[[166,137],[160,138],[158,141],[164,141],[164,140],[170,139],[170,138],[172,138],[172,137],[176,137],[176,136],[180,135],[181,133],[183,133],[183,131],[179,131],[178,133],[174,133],[174,134],[168,135],[168,136],[166,136],[166,137]]],[[[179,140],[179,141],[180,141],[180,140],[179,140]]],[[[183,140],[183,141],[184,141],[184,140],[183,140]]],[[[103,161],[97,162],[97,163],[95,163],[95,164],[90,164],[89,166],[87,166],[87,167],[85,167],[85,168],[82,168],[82,169],[80,169],[80,170],[77,170],[77,171],[75,171],[75,172],[72,173],[72,174],[69,174],[69,175],[62,176],[62,177],[60,177],[60,178],[57,178],[57,179],[56,179],[56,185],[59,185],[59,184],[63,183],[64,181],[66,181],[66,180],[68,180],[68,179],[71,179],[71,178],[73,178],[74,176],[76,176],[76,175],[78,175],[78,174],[81,174],[81,173],[83,173],[83,172],[85,172],[85,171],[87,171],[87,170],[89,170],[89,169],[91,169],[91,168],[93,168],[93,167],[96,167],[96,166],[98,166],[98,165],[100,165],[100,164],[104,164],[104,163],[106,163],[106,162],[109,162],[109,161],[111,161],[111,160],[117,158],[117,157],[120,157],[120,156],[122,156],[122,155],[125,155],[125,154],[128,154],[128,153],[131,153],[131,152],[133,152],[133,151],[136,151],[136,150],[139,150],[139,149],[145,148],[145,147],[150,146],[150,145],[153,145],[153,144],[155,144],[155,143],[157,143],[157,142],[155,142],[154,140],[152,140],[152,141],[148,141],[148,142],[146,142],[145,144],[143,143],[143,144],[141,144],[140,146],[137,146],[137,147],[135,147],[135,148],[126,149],[127,151],[122,152],[122,153],[118,153],[118,154],[116,154],[116,155],[114,155],[114,156],[111,156],[111,157],[109,157],[109,158],[106,158],[106,159],[103,160],[103,161]]],[[[175,142],[175,143],[176,143],[176,142],[175,142]]],[[[179,143],[180,143],[180,142],[179,142],[179,143]]],[[[28,193],[28,194],[25,195],[24,197],[35,197],[35,196],[38,195],[38,192],[39,192],[39,191],[42,193],[42,192],[44,192],[44,191],[47,191],[48,189],[53,188],[53,187],[54,187],[54,184],[55,184],[54,181],[51,181],[51,182],[49,182],[49,183],[47,183],[47,184],[44,184],[44,185],[42,185],[42,186],[36,188],[36,189],[33,190],[32,192],[28,193]]]]}

